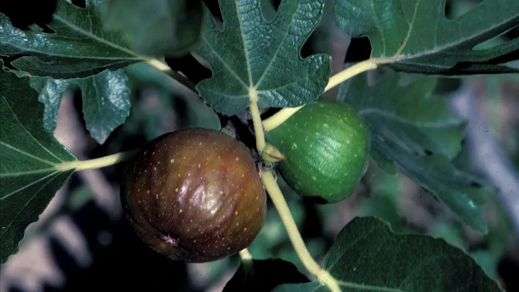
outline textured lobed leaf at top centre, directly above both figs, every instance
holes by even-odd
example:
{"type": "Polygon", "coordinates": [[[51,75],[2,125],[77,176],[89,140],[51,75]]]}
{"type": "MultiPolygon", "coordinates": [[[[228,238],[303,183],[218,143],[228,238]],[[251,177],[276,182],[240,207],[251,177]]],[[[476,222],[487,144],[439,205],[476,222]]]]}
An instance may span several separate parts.
{"type": "Polygon", "coordinates": [[[213,76],[197,86],[220,113],[233,115],[250,100],[270,107],[296,107],[319,97],[331,73],[324,54],[305,59],[300,50],[323,14],[323,0],[282,1],[267,22],[259,0],[220,0],[224,22],[207,21],[195,51],[213,76]]]}

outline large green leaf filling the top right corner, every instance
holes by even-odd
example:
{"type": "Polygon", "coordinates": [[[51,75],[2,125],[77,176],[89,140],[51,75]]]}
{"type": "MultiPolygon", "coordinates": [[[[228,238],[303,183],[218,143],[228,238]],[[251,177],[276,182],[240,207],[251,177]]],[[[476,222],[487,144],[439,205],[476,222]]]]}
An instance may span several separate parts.
{"type": "Polygon", "coordinates": [[[435,75],[519,73],[515,37],[474,48],[519,25],[519,1],[486,0],[456,19],[445,0],[337,0],[333,15],[352,37],[370,39],[371,57],[397,71],[435,75]]]}

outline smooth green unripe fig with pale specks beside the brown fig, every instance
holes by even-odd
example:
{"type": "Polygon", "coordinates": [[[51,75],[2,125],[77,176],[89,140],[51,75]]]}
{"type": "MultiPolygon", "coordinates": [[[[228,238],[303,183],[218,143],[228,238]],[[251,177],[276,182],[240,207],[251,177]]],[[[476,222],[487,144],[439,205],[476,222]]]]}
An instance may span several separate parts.
{"type": "Polygon", "coordinates": [[[370,131],[350,105],[318,100],[278,127],[266,139],[286,157],[278,169],[299,195],[318,203],[350,196],[367,167],[370,131]]]}

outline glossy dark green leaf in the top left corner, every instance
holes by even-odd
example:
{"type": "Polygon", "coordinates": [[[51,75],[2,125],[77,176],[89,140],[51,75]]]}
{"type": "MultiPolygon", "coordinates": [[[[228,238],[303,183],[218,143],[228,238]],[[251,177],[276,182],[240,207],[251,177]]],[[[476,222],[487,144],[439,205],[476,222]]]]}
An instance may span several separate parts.
{"type": "Polygon", "coordinates": [[[0,14],[0,54],[29,55],[11,64],[32,76],[53,78],[87,77],[143,61],[120,34],[103,30],[102,2],[86,0],[86,8],[80,8],[59,0],[47,24],[52,32],[18,29],[0,14]]]}

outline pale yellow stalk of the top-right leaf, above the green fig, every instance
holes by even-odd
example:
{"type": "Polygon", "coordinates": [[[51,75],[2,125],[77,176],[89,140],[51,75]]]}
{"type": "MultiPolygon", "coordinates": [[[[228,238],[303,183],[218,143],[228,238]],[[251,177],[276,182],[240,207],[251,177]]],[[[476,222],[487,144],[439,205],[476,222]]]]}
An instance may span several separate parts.
{"type": "MultiPolygon", "coordinates": [[[[328,85],[326,85],[326,87],[324,88],[323,93],[345,82],[353,76],[356,76],[362,72],[376,69],[379,64],[380,60],[368,59],[354,64],[343,71],[340,71],[339,73],[330,77],[330,81],[328,82],[328,85]]],[[[263,128],[265,129],[265,132],[271,131],[279,125],[283,124],[286,120],[288,120],[289,117],[295,114],[298,110],[301,110],[303,107],[304,105],[301,105],[297,108],[283,108],[279,112],[270,116],[269,118],[266,118],[263,121],[263,128]]]]}

